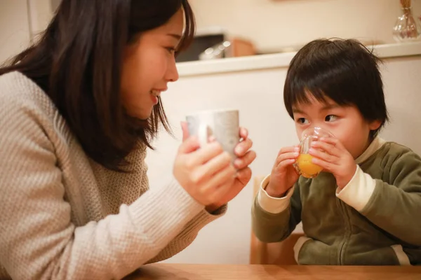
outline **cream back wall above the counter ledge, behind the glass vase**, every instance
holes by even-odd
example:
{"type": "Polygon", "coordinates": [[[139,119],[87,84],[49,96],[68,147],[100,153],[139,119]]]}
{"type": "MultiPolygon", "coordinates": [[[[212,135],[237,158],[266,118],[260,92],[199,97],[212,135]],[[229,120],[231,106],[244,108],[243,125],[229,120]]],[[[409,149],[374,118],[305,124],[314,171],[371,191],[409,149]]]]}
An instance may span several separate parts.
{"type": "MultiPolygon", "coordinates": [[[[221,26],[261,51],[302,45],[319,37],[394,42],[399,0],[190,0],[199,28],[221,26]]],[[[421,0],[413,0],[421,16],[421,0]]]]}

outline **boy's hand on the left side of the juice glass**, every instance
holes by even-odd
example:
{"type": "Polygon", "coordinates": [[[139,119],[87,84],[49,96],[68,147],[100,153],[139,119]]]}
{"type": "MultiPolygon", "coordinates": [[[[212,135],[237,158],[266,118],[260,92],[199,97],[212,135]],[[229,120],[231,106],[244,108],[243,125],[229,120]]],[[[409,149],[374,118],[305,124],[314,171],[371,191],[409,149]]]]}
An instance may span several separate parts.
{"type": "Polygon", "coordinates": [[[300,177],[293,167],[293,163],[300,154],[299,151],[298,146],[281,148],[279,151],[266,187],[266,192],[271,197],[283,197],[300,177]]]}

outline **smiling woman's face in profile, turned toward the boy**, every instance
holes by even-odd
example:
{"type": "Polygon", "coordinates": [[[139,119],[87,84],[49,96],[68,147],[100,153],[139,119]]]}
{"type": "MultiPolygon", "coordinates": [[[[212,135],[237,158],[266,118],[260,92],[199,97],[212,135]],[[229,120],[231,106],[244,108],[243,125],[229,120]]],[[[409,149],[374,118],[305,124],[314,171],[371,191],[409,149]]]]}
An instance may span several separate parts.
{"type": "Polygon", "coordinates": [[[121,100],[130,116],[149,118],[168,82],[178,80],[174,55],[183,27],[184,12],[180,9],[165,25],[143,32],[138,41],[126,47],[121,100]]]}

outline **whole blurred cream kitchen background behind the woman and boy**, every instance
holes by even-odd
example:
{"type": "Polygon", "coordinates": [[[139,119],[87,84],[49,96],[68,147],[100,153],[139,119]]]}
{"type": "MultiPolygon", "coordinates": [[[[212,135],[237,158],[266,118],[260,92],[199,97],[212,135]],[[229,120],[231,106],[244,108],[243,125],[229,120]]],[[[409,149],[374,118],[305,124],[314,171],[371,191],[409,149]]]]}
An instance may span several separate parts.
{"type": "MultiPolygon", "coordinates": [[[[254,180],[270,172],[279,148],[298,141],[283,106],[288,64],[315,38],[357,38],[373,47],[384,61],[391,116],[381,137],[421,154],[421,0],[189,1],[198,30],[192,48],[178,57],[180,80],[161,96],[175,137],[162,132],[156,150],[149,151],[150,187],[171,179],[171,159],[182,138],[180,120],[192,111],[239,109],[258,158],[251,166],[253,179],[229,203],[227,214],[166,262],[249,262],[254,180]],[[408,2],[411,8],[403,9],[408,2]]],[[[59,2],[0,0],[0,62],[36,40],[59,2]]]]}

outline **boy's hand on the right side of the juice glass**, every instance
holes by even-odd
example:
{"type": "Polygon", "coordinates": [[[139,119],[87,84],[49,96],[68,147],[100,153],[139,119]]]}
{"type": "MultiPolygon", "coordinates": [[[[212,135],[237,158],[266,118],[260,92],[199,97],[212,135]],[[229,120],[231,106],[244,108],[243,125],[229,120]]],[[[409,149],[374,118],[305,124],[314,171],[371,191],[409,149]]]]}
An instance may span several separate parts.
{"type": "Polygon", "coordinates": [[[309,154],[313,155],[312,162],[323,170],[335,176],[340,189],[347,186],[356,172],[356,163],[352,155],[334,137],[323,137],[312,142],[309,154]]]}

